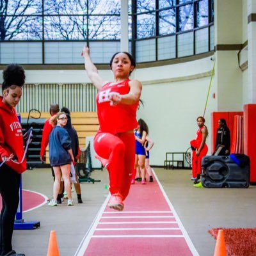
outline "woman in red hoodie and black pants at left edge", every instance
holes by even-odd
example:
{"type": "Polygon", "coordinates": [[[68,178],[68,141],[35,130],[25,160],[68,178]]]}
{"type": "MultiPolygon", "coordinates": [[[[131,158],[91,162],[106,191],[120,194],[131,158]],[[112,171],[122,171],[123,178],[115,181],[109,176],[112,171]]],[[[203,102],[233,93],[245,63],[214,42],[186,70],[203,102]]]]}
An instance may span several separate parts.
{"type": "Polygon", "coordinates": [[[3,71],[3,97],[0,97],[0,194],[3,208],[0,216],[0,255],[22,256],[12,250],[15,214],[19,205],[20,174],[26,170],[22,127],[15,106],[22,95],[25,72],[17,64],[3,71]],[[4,162],[4,163],[3,163],[4,162]]]}

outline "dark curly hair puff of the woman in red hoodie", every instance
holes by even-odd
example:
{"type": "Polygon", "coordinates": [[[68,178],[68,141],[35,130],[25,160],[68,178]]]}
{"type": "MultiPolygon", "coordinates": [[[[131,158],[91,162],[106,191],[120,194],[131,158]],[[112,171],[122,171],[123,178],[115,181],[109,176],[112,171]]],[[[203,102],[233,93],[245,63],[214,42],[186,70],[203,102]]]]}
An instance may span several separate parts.
{"type": "MultiPolygon", "coordinates": [[[[2,91],[12,86],[22,87],[25,83],[24,68],[18,64],[10,64],[3,70],[2,91]]],[[[14,89],[14,88],[13,88],[14,89]]]]}

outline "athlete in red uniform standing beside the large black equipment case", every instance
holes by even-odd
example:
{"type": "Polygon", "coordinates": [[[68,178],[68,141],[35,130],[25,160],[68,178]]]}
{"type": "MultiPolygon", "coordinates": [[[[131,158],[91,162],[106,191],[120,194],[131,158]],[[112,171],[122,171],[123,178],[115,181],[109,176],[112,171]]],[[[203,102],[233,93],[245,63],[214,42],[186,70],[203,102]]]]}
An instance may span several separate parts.
{"type": "Polygon", "coordinates": [[[195,164],[195,168],[193,168],[192,166],[192,169],[194,170],[196,175],[196,179],[194,181],[195,185],[198,184],[200,180],[202,158],[206,156],[208,151],[208,147],[205,143],[206,138],[208,136],[208,129],[204,124],[205,119],[203,116],[198,116],[198,118],[196,118],[196,122],[199,129],[196,132],[196,141],[195,141],[196,150],[195,150],[195,159],[193,160],[193,163],[195,164]]]}

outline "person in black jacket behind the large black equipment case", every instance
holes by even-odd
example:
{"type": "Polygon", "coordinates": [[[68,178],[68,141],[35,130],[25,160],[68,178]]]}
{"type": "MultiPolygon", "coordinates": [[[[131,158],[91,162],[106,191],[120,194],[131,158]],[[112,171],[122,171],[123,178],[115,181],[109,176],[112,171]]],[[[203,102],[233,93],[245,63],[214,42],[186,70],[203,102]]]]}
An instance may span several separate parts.
{"type": "Polygon", "coordinates": [[[217,129],[214,155],[228,156],[230,154],[230,131],[225,119],[221,118],[218,124],[219,128],[217,129]]]}

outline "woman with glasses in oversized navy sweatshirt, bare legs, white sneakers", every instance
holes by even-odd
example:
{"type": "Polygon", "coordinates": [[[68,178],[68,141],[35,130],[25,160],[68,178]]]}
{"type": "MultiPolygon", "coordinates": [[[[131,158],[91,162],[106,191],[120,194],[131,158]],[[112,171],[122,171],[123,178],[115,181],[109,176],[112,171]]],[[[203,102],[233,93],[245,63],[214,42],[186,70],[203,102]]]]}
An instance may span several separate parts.
{"type": "Polygon", "coordinates": [[[65,190],[68,196],[68,206],[73,205],[70,170],[71,164],[75,159],[71,149],[71,139],[63,127],[67,124],[67,115],[63,112],[52,116],[50,124],[56,125],[52,130],[49,138],[49,158],[51,166],[54,170],[55,180],[53,185],[53,199],[49,202],[49,206],[57,206],[57,196],[60,190],[61,176],[64,180],[65,190]]]}

